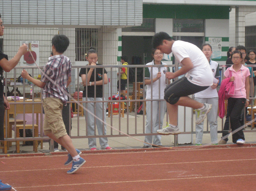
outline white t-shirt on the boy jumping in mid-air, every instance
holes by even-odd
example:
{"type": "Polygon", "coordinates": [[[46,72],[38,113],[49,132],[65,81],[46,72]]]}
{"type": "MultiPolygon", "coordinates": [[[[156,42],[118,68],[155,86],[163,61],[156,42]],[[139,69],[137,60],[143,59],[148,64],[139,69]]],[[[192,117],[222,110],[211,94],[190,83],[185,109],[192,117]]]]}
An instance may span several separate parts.
{"type": "Polygon", "coordinates": [[[194,44],[177,40],[171,48],[175,58],[181,66],[181,61],[184,58],[190,58],[194,68],[187,72],[185,77],[188,81],[198,86],[211,86],[213,76],[209,62],[203,52],[194,44]]]}

